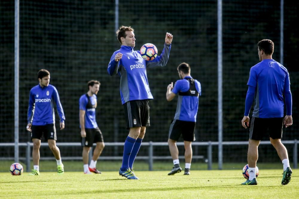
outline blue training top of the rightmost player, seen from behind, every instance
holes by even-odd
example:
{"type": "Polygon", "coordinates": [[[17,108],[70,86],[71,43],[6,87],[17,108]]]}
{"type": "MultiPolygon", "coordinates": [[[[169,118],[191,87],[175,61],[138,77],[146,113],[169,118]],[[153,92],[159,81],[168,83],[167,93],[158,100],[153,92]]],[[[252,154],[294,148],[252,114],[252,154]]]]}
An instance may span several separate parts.
{"type": "Polygon", "coordinates": [[[289,72],[277,61],[264,59],[251,67],[247,85],[249,88],[246,96],[244,115],[249,115],[253,101],[253,98],[252,100],[250,99],[250,94],[253,89],[255,90],[253,117],[283,117],[283,95],[286,97],[286,114],[292,115],[292,94],[289,72]]]}

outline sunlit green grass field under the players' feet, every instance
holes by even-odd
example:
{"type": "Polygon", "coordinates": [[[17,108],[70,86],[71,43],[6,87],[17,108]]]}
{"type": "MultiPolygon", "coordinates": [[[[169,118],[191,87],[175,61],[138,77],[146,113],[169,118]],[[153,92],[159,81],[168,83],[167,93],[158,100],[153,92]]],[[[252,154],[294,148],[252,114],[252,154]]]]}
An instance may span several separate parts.
{"type": "Polygon", "coordinates": [[[191,170],[191,175],[168,171],[135,171],[139,180],[127,180],[118,171],[41,172],[40,176],[12,176],[0,172],[0,198],[299,198],[299,169],[282,186],[282,169],[260,169],[257,186],[238,170],[191,170]]]}

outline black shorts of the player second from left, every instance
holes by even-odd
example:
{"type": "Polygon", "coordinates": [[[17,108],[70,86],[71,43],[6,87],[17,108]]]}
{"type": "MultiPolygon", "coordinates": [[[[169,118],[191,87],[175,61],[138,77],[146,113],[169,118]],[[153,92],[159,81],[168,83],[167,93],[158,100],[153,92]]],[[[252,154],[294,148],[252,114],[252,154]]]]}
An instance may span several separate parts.
{"type": "Polygon", "coordinates": [[[85,129],[86,137],[82,138],[81,146],[91,147],[93,143],[104,142],[103,135],[99,127],[95,129],[85,129]]]}

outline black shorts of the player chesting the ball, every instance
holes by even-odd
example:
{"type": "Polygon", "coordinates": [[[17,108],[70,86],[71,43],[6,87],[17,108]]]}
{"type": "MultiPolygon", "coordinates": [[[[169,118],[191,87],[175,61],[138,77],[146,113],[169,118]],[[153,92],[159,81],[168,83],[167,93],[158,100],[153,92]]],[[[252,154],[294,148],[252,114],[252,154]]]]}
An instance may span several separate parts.
{"type": "Polygon", "coordinates": [[[149,101],[132,100],[123,104],[127,129],[133,127],[149,127],[149,101]]]}

